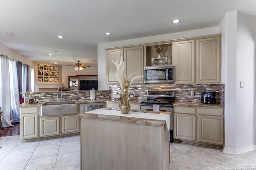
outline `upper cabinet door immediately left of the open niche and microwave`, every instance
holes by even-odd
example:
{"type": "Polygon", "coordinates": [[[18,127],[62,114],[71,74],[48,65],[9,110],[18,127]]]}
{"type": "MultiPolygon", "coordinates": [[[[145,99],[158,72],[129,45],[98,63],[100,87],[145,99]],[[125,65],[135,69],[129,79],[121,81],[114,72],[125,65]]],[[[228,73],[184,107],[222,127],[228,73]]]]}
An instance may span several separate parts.
{"type": "MultiPolygon", "coordinates": [[[[133,77],[143,76],[143,46],[124,48],[124,59],[126,59],[126,75],[133,77]]],[[[143,77],[136,78],[133,83],[143,83],[143,77]]]]}

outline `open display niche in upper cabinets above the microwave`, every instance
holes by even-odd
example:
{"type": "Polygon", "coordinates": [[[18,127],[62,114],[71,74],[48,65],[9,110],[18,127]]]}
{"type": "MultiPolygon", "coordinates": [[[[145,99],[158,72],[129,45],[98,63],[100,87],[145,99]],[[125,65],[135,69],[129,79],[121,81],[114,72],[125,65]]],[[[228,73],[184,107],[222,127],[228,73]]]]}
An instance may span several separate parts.
{"type": "Polygon", "coordinates": [[[145,45],[144,47],[144,66],[152,66],[157,64],[173,64],[172,43],[162,42],[154,45],[145,45]],[[155,60],[158,58],[163,60],[155,60]],[[164,59],[167,59],[166,63],[164,63],[164,59]],[[157,61],[158,63],[154,63],[154,61],[157,61]]]}

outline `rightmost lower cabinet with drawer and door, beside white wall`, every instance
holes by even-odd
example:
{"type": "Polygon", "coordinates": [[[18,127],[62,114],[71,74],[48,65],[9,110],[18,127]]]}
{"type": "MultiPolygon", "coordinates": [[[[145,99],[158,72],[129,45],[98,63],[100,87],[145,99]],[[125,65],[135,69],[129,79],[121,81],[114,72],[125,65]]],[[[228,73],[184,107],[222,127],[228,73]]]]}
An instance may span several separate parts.
{"type": "Polygon", "coordinates": [[[223,145],[223,109],[198,109],[198,141],[223,145]]]}

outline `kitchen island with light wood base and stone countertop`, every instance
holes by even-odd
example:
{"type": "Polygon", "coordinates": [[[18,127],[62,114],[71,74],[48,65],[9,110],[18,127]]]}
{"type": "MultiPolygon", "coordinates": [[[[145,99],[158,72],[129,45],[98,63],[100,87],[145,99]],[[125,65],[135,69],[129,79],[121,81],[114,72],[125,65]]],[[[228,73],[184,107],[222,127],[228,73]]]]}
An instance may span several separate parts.
{"type": "Polygon", "coordinates": [[[142,112],[96,109],[79,114],[81,169],[168,170],[170,115],[142,112]]]}

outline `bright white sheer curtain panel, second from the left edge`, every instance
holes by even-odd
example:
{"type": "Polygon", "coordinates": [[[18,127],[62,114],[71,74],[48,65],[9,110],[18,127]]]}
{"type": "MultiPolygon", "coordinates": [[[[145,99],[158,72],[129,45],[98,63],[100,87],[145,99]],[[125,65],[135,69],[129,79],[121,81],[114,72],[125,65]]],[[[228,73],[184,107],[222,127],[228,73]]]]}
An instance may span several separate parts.
{"type": "Polygon", "coordinates": [[[12,107],[12,123],[20,122],[19,109],[17,107],[20,104],[19,100],[19,86],[18,86],[18,72],[16,66],[16,60],[9,61],[10,72],[10,90],[11,90],[11,107],[12,107]]]}

